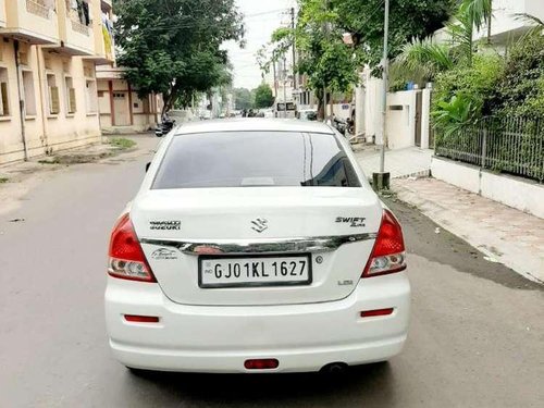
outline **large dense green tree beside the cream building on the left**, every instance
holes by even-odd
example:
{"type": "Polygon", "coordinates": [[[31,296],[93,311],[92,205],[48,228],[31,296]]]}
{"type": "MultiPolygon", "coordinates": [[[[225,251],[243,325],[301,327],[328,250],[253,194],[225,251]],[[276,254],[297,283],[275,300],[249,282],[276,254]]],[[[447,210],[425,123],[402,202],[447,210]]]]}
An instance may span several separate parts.
{"type": "Polygon", "coordinates": [[[125,78],[140,97],[160,92],[164,111],[230,81],[226,40],[240,41],[234,0],[116,0],[115,39],[125,78]]]}

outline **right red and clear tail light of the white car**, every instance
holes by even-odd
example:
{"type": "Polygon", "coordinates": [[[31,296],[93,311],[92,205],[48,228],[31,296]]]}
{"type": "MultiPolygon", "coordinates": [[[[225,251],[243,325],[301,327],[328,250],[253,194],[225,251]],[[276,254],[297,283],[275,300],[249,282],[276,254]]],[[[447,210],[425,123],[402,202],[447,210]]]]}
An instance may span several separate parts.
{"type": "Polygon", "coordinates": [[[362,277],[385,275],[406,269],[405,242],[403,228],[395,215],[384,210],[382,224],[362,277]]]}

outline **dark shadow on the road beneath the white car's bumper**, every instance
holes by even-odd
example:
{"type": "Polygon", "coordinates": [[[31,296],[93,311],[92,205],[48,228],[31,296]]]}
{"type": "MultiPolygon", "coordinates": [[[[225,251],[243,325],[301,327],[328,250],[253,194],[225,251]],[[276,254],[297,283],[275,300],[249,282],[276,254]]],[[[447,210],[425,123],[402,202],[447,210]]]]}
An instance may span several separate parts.
{"type": "Polygon", "coordinates": [[[190,401],[205,407],[368,406],[372,403],[387,406],[393,401],[394,388],[393,370],[388,363],[350,368],[337,375],[153,372],[137,375],[127,372],[126,375],[128,388],[136,387],[138,394],[146,394],[156,404],[190,401]]]}

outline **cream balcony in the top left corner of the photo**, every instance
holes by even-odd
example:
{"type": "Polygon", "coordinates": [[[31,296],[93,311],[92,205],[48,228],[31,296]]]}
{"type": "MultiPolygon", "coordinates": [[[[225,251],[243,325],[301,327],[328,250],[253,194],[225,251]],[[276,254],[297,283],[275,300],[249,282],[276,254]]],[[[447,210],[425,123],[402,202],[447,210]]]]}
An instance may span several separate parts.
{"type": "Polygon", "coordinates": [[[0,10],[3,10],[2,3],[5,4],[5,25],[0,24],[1,35],[30,44],[59,41],[57,14],[45,0],[0,0],[0,10]]]}

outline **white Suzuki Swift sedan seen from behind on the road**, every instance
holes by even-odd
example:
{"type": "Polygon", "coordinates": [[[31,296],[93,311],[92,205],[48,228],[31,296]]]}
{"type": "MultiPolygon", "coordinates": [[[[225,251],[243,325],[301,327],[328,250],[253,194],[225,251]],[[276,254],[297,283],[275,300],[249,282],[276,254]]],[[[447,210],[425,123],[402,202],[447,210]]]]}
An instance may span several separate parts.
{"type": "Polygon", "coordinates": [[[304,372],[406,341],[403,232],[317,122],[200,122],[162,141],[111,235],[106,320],[131,369],[304,372]]]}

